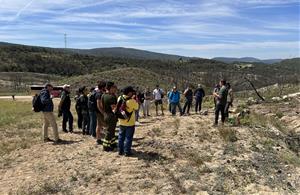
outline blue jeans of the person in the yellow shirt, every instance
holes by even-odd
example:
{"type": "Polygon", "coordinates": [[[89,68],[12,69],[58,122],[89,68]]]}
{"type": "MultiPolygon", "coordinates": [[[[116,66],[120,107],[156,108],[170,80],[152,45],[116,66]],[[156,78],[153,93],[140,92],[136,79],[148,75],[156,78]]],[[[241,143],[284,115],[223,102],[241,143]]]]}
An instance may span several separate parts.
{"type": "Polygon", "coordinates": [[[119,152],[120,153],[122,154],[124,152],[125,154],[131,153],[134,131],[135,131],[135,126],[127,127],[127,126],[120,125],[120,131],[119,131],[119,152]]]}

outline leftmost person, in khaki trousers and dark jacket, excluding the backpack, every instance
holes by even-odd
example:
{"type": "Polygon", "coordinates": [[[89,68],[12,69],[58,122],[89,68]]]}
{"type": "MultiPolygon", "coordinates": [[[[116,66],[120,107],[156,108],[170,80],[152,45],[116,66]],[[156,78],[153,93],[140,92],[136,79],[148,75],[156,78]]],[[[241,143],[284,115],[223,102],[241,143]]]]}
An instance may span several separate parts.
{"type": "Polygon", "coordinates": [[[44,142],[52,141],[48,137],[48,127],[49,125],[51,125],[53,129],[54,141],[56,143],[59,143],[62,140],[59,139],[57,124],[56,124],[55,116],[53,114],[54,105],[53,105],[52,97],[50,95],[52,90],[53,90],[53,86],[50,83],[48,83],[45,85],[45,88],[40,93],[41,103],[43,104],[42,112],[44,116],[43,137],[44,137],[44,142]]]}

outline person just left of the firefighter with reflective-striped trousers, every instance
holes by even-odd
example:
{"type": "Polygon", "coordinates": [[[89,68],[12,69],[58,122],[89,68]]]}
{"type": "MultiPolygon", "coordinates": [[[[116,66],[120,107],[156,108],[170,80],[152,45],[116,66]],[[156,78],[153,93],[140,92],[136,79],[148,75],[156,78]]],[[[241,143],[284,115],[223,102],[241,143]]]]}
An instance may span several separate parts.
{"type": "Polygon", "coordinates": [[[101,98],[103,94],[105,94],[105,89],[106,88],[106,82],[105,81],[100,81],[98,82],[98,91],[96,94],[96,100],[97,100],[97,109],[96,109],[96,114],[97,114],[97,129],[96,129],[96,139],[97,139],[97,144],[101,145],[102,140],[101,140],[101,133],[104,127],[104,110],[103,110],[103,105],[101,98]]]}

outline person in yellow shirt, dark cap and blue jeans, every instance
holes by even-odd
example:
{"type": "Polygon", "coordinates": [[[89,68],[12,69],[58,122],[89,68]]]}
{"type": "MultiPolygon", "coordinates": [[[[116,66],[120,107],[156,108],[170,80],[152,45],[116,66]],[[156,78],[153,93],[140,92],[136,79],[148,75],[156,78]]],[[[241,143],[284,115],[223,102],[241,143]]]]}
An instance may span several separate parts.
{"type": "MultiPolygon", "coordinates": [[[[118,99],[118,105],[120,101],[125,103],[125,109],[129,114],[128,119],[119,119],[120,131],[119,131],[119,155],[131,156],[131,145],[133,140],[133,135],[135,131],[135,111],[138,109],[138,103],[134,97],[134,90],[131,86],[126,87],[123,90],[123,95],[118,99]],[[124,145],[125,142],[125,145],[124,145]]],[[[119,109],[118,106],[117,109],[119,109]]]]}

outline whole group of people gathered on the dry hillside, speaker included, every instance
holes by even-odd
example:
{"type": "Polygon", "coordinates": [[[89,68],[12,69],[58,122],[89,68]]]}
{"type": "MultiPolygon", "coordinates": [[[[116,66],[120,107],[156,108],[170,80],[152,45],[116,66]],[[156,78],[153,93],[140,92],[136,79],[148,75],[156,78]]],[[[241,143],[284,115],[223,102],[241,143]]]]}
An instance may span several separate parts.
{"type": "MultiPolygon", "coordinates": [[[[43,136],[44,141],[52,141],[48,137],[48,127],[52,126],[54,131],[55,143],[62,142],[59,139],[57,124],[53,113],[54,106],[51,97],[53,86],[46,84],[40,92],[40,100],[43,104],[42,112],[44,115],[43,136]]],[[[117,96],[118,88],[113,82],[98,82],[96,88],[90,90],[83,86],[76,91],[75,108],[78,116],[77,126],[82,130],[83,135],[90,135],[96,139],[96,143],[103,145],[104,151],[114,151],[118,147],[119,154],[130,156],[135,126],[138,125],[139,113],[142,110],[144,117],[150,115],[150,104],[154,102],[156,115],[164,115],[163,99],[165,92],[156,86],[153,91],[146,88],[143,92],[139,88],[132,86],[121,90],[122,94],[117,96]],[[115,135],[115,130],[119,122],[119,134],[115,135]]],[[[180,98],[181,94],[174,86],[166,94],[169,103],[169,112],[175,116],[177,107],[180,115],[190,115],[190,109],[195,99],[195,113],[201,111],[202,100],[205,97],[205,91],[199,84],[193,90],[188,86],[184,92],[184,107],[182,109],[180,98]]],[[[213,92],[215,100],[215,123],[218,124],[219,113],[221,112],[222,123],[228,117],[229,106],[232,106],[233,93],[230,85],[225,80],[221,80],[213,92]]],[[[64,85],[61,93],[61,99],[58,105],[58,117],[62,116],[62,130],[64,132],[73,132],[73,115],[71,113],[70,85],[64,85]],[[67,129],[68,124],[68,129],[67,129]]]]}

